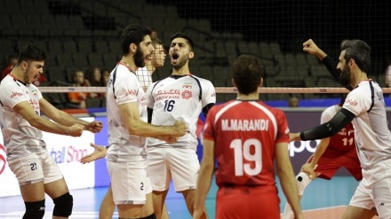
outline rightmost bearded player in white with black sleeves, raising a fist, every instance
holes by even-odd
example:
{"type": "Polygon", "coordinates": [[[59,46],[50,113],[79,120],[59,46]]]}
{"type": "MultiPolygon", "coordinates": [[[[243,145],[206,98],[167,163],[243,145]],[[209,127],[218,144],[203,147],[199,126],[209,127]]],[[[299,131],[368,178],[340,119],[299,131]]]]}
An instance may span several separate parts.
{"type": "MultiPolygon", "coordinates": [[[[304,51],[325,57],[312,40],[304,51]]],[[[331,121],[314,129],[291,133],[292,140],[331,137],[352,121],[363,180],[342,218],[372,218],[376,208],[379,218],[391,218],[391,133],[387,128],[386,108],[379,84],[367,77],[371,64],[371,47],[360,40],[347,40],[339,55],[340,82],[353,90],[331,121]]]]}

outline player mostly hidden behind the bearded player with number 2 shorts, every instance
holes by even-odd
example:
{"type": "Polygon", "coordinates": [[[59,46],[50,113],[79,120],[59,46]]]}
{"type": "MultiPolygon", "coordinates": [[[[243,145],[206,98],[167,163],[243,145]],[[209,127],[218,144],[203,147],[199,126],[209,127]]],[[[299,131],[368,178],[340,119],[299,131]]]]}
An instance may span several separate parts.
{"type": "MultiPolygon", "coordinates": [[[[166,56],[161,40],[156,38],[153,39],[151,42],[155,49],[155,51],[152,52],[151,59],[146,60],[146,66],[139,67],[136,70],[137,78],[141,86],[143,87],[148,87],[152,83],[152,74],[154,74],[157,67],[164,66],[164,59],[166,56]]],[[[81,160],[82,163],[88,163],[92,160],[97,160],[107,155],[106,146],[92,144],[92,147],[95,148],[95,152],[84,156],[81,160]]],[[[100,219],[109,219],[113,217],[116,204],[113,200],[113,192],[111,190],[111,186],[108,188],[108,192],[106,192],[106,195],[103,198],[100,206],[100,219]]],[[[165,208],[165,206],[164,218],[168,218],[167,209],[165,208]]]]}

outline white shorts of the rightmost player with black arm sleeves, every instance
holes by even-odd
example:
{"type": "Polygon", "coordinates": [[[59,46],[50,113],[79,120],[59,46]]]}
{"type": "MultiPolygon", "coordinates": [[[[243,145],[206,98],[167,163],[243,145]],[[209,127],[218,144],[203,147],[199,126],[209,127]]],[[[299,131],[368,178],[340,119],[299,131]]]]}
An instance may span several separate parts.
{"type": "MultiPolygon", "coordinates": [[[[380,165],[385,165],[382,161],[380,165]]],[[[354,207],[362,207],[365,209],[376,208],[379,218],[391,218],[391,168],[385,167],[383,178],[376,183],[365,186],[363,182],[358,184],[355,189],[355,194],[350,200],[349,205],[354,207]],[[384,177],[385,176],[385,177],[384,177]]]]}

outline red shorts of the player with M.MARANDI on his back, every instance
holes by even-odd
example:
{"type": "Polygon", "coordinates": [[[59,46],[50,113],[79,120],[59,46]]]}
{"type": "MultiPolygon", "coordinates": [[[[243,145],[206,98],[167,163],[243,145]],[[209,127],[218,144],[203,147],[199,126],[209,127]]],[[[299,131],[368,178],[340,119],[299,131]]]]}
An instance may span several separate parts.
{"type": "Polygon", "coordinates": [[[217,219],[280,219],[280,199],[275,186],[220,187],[217,219]]]}

